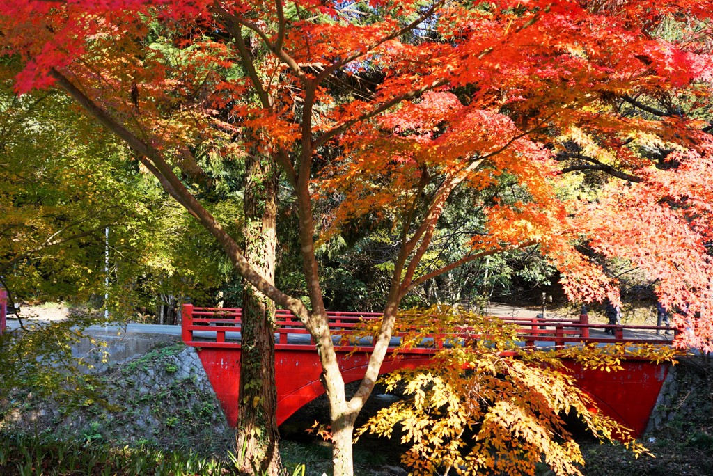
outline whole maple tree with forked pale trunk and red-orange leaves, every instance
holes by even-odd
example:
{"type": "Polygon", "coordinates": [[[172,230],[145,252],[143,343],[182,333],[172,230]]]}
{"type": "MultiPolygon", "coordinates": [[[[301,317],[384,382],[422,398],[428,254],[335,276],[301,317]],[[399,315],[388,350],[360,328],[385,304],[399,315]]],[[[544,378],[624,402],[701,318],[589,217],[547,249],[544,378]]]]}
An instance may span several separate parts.
{"type": "Polygon", "coordinates": [[[0,44],[24,62],[17,92],[66,90],[312,333],[338,473],[404,296],[490,254],[539,246],[577,301],[618,301],[600,263],[630,260],[687,330],[677,345],[713,350],[712,1],[1,0],[0,12],[0,44]],[[196,199],[210,157],[255,152],[297,204],[309,307],[255,274],[196,199]],[[460,258],[424,266],[456,192],[477,227],[460,258]],[[347,400],[314,252],[364,219],[391,224],[398,256],[347,400]]]}

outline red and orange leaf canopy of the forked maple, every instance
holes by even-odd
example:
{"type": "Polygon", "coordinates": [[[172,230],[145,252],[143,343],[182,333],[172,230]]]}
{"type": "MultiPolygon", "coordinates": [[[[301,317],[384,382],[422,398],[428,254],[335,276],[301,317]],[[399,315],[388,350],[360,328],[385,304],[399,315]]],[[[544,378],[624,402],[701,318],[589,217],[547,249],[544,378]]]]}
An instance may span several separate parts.
{"type": "MultiPolygon", "coordinates": [[[[693,314],[710,297],[709,285],[694,278],[710,275],[709,190],[697,180],[707,172],[711,147],[701,120],[713,74],[709,7],[706,1],[371,1],[349,9],[312,1],[124,0],[7,1],[0,9],[6,51],[26,59],[19,93],[49,86],[61,73],[130,128],[150,133],[162,150],[198,143],[225,152],[232,134],[255,128],[261,147],[282,154],[304,140],[305,111],[295,105],[307,99],[311,149],[343,148],[313,182],[318,196],[336,190],[348,197],[329,230],[373,210],[403,209],[419,182],[436,175],[476,190],[514,175],[525,200],[489,207],[488,233],[473,237],[471,254],[538,242],[562,269],[573,299],[616,299],[610,280],[570,247],[583,235],[597,252],[632,259],[659,278],[664,303],[693,314]],[[379,21],[360,21],[376,14],[379,21]],[[170,29],[152,35],[158,27],[150,19],[170,29]],[[414,33],[414,25],[422,31],[414,33]],[[278,54],[254,58],[259,84],[235,74],[244,67],[236,61],[240,42],[226,38],[236,31],[250,32],[246,48],[259,41],[279,46],[278,54]],[[152,36],[155,43],[146,39],[152,36]],[[345,94],[334,86],[335,76],[359,83],[374,70],[383,76],[376,88],[352,85],[357,92],[345,94]],[[259,100],[234,99],[250,91],[259,100]],[[638,114],[625,111],[632,97],[640,98],[638,114]],[[665,98],[671,110],[652,115],[656,108],[645,98],[665,98]],[[595,169],[640,179],[605,192],[610,198],[602,201],[618,209],[600,201],[578,209],[578,221],[566,219],[572,206],[555,197],[552,156],[571,144],[578,156],[598,162],[595,169]],[[665,160],[680,166],[655,169],[647,148],[672,150],[665,160]],[[622,194],[635,202],[622,201],[622,194]],[[655,216],[635,211],[643,207],[655,216]],[[647,241],[632,230],[678,238],[647,241]],[[668,266],[647,262],[671,257],[672,248],[686,255],[668,266]]],[[[173,161],[190,171],[193,154],[181,151],[173,161]]]]}

